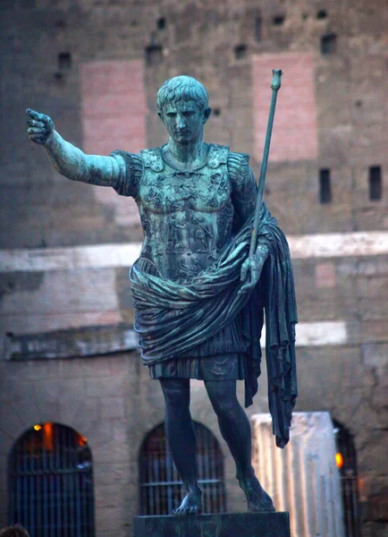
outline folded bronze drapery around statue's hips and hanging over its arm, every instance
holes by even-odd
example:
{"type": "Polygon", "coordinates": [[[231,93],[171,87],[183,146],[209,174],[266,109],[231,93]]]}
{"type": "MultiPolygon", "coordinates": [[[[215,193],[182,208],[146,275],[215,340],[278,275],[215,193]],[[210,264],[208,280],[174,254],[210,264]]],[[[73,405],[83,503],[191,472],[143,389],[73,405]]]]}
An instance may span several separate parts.
{"type": "Polygon", "coordinates": [[[220,258],[188,282],[166,280],[141,258],[131,268],[135,330],[143,362],[151,365],[179,358],[206,341],[237,315],[242,316],[249,355],[244,362],[245,405],[252,404],[260,375],[260,335],[266,311],[268,404],[276,445],[289,440],[292,409],[298,395],[295,364],[297,311],[288,244],[266,206],[260,217],[258,243],[270,255],[259,284],[239,294],[240,269],[249,255],[252,222],[243,226],[220,258]]]}

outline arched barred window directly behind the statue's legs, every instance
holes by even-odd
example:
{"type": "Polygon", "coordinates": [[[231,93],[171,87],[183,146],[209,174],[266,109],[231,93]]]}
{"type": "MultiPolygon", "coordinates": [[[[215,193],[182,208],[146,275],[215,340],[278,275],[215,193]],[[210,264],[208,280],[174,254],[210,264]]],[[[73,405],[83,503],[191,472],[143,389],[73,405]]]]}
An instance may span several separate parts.
{"type": "MultiPolygon", "coordinates": [[[[197,436],[198,479],[203,490],[205,513],[224,513],[224,458],[217,439],[201,423],[194,422],[197,436]]],[[[181,480],[166,450],[164,423],[144,440],[139,454],[141,515],[171,515],[183,498],[181,480]]]]}

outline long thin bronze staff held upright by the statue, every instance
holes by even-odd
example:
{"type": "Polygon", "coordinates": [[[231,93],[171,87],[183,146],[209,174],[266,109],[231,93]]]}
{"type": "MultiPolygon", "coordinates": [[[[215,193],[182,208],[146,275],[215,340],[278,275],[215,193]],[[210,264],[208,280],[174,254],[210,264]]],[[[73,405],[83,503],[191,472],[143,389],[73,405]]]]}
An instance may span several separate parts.
{"type": "Polygon", "coordinates": [[[274,78],[271,82],[272,98],[269,107],[268,124],[266,126],[266,141],[264,144],[263,160],[261,161],[260,178],[258,180],[258,192],[255,209],[255,219],[253,221],[252,237],[250,239],[249,257],[256,251],[258,223],[260,220],[260,211],[263,205],[264,184],[266,183],[266,165],[268,163],[269,146],[271,143],[272,126],[274,124],[274,107],[276,106],[277,92],[281,86],[281,69],[273,69],[274,78]]]}

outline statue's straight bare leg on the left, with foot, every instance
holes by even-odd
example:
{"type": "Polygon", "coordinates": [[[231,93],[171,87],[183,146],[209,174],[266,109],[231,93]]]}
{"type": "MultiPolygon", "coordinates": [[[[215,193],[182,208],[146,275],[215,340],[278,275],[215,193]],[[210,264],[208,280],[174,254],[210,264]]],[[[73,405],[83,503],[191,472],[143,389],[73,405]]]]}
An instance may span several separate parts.
{"type": "Polygon", "coordinates": [[[202,511],[198,487],[196,437],[190,414],[190,379],[159,379],[165,402],[165,436],[187,495],[173,515],[202,511]]]}

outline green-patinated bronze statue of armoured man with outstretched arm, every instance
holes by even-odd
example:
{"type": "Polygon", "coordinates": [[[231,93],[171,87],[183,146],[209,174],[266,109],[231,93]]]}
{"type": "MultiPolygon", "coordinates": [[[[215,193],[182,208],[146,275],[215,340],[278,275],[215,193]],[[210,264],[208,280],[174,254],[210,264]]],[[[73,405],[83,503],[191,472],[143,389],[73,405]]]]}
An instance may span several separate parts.
{"type": "Polygon", "coordinates": [[[284,447],[297,396],[288,245],[260,204],[257,247],[249,255],[257,183],[248,155],[203,141],[211,110],[202,84],[188,76],[165,81],[157,107],[169,141],[139,155],[85,155],[63,141],[48,116],[30,109],[28,132],[60,174],[137,201],[144,243],[131,268],[134,328],[143,362],[162,386],[167,441],[187,493],[173,514],[202,510],[190,379],[205,382],[249,509],[274,511],[251,465],[250,425],[236,380],[245,380],[250,405],[266,311],[269,407],[276,444],[284,447]]]}

